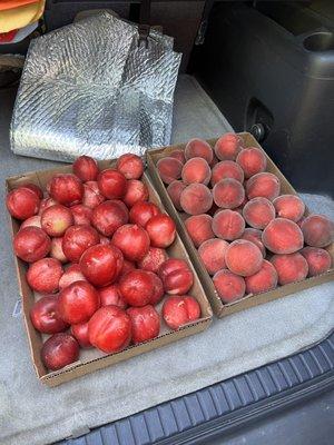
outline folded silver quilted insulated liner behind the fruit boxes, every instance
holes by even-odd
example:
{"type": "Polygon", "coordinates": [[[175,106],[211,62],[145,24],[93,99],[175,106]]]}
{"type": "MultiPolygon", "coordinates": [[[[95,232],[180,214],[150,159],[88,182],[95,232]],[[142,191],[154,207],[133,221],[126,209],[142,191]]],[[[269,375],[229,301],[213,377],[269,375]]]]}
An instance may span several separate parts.
{"type": "Polygon", "coordinates": [[[100,12],[32,41],[11,122],[14,154],[109,159],[168,145],[181,56],[150,30],[100,12]]]}

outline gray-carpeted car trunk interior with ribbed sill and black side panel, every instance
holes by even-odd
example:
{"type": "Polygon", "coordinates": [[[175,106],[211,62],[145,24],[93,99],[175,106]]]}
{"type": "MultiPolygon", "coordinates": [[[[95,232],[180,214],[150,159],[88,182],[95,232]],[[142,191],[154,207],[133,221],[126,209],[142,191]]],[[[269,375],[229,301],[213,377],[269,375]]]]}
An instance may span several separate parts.
{"type": "MultiPolygon", "coordinates": [[[[150,23],[161,26],[184,53],[171,144],[250,131],[311,210],[333,218],[333,8],[331,2],[269,3],[153,2],[150,23]]],[[[90,9],[111,9],[124,19],[139,20],[138,2],[52,0],[47,1],[45,29],[71,23],[78,12],[90,9]]],[[[24,55],[28,44],[0,46],[0,55],[24,55]]],[[[9,80],[0,89],[2,181],[57,166],[11,152],[17,83],[9,80]]],[[[3,212],[1,218],[4,444],[207,444],[246,432],[249,424],[287,407],[306,406],[310,398],[333,389],[333,283],[215,319],[205,334],[99,370],[78,384],[41,387],[21,323],[3,212]]],[[[304,425],[303,437],[330,443],[326,419],[314,418],[318,425],[323,422],[323,429],[314,426],[311,432],[304,425]]],[[[286,443],[295,437],[294,422],[291,425],[283,436],[286,443]]]]}

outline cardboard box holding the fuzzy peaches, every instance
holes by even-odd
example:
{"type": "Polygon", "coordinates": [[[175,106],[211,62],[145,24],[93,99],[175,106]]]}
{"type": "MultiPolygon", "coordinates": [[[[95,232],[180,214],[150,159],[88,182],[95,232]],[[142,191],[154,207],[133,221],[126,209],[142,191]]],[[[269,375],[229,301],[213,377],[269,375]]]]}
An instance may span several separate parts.
{"type": "MultiPolygon", "coordinates": [[[[256,139],[248,134],[248,132],[242,132],[239,136],[243,138],[245,147],[258,147],[262,149],[262,147],[257,144],[256,139]]],[[[212,147],[215,146],[217,139],[210,139],[208,142],[210,144],[212,147]]],[[[187,247],[189,255],[191,257],[191,260],[197,269],[197,274],[202,280],[202,284],[206,290],[206,294],[209,298],[209,301],[214,308],[215,314],[218,317],[223,317],[228,314],[234,314],[237,313],[238,310],[246,309],[248,307],[257,306],[263,303],[271,301],[276,298],[284,297],[289,294],[294,294],[296,291],[307,289],[308,287],[316,286],[323,283],[327,283],[334,279],[334,269],[332,268],[325,274],[322,274],[317,277],[312,277],[307,278],[303,281],[298,283],[292,283],[285,286],[277,287],[274,290],[269,290],[266,293],[257,294],[257,295],[247,295],[244,298],[229,303],[229,304],[223,304],[220,298],[217,295],[217,291],[214,287],[212,277],[208,275],[206,269],[204,268],[200,258],[197,254],[197,250],[186,230],[186,227],[184,225],[184,216],[185,214],[179,212],[176,210],[174,207],[167,191],[164,182],[161,181],[159,174],[156,169],[156,164],[160,158],[164,158],[168,156],[169,152],[173,150],[184,150],[185,145],[178,145],[178,146],[171,146],[171,147],[165,147],[161,149],[156,149],[151,150],[147,154],[147,162],[148,162],[148,171],[150,177],[153,178],[154,185],[165,204],[166,209],[168,210],[169,215],[175,219],[178,231],[181,236],[181,239],[185,243],[185,246],[187,247]]],[[[266,155],[267,158],[267,171],[271,171],[275,174],[281,181],[281,192],[282,194],[291,194],[291,195],[296,195],[296,190],[293,188],[293,186],[288,182],[288,180],[283,176],[283,174],[279,171],[277,166],[272,161],[272,159],[266,155]]],[[[308,214],[308,210],[306,210],[306,215],[308,214]]],[[[331,246],[327,247],[327,250],[330,251],[332,256],[332,265],[334,265],[334,245],[332,244],[331,246]]],[[[333,266],[332,266],[333,267],[333,266]]]]}

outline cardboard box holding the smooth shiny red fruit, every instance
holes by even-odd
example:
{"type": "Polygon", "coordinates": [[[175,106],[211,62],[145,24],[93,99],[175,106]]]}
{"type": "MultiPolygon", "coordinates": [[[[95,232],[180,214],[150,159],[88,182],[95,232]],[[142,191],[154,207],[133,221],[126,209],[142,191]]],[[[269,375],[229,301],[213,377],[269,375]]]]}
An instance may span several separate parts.
{"type": "MultiPolygon", "coordinates": [[[[101,161],[99,162],[101,168],[107,168],[112,165],[112,161],[101,161]]],[[[40,186],[42,189],[46,189],[46,185],[48,180],[51,178],[52,175],[57,172],[71,172],[71,167],[66,166],[57,169],[51,170],[43,170],[43,171],[33,171],[28,172],[21,176],[8,178],[6,181],[7,190],[12,190],[20,185],[24,185],[28,182],[33,182],[40,186]]],[[[148,176],[144,175],[144,181],[147,184],[149,188],[150,200],[155,202],[160,209],[164,209],[164,205],[160,201],[160,198],[156,190],[154,189],[148,176]]],[[[10,218],[11,231],[12,236],[19,229],[19,222],[10,218]]],[[[33,366],[37,373],[38,378],[47,384],[48,386],[57,386],[65,382],[71,380],[79,376],[82,376],[88,373],[92,373],[96,369],[105,368],[109,365],[114,365],[118,362],[125,360],[127,358],[131,358],[136,355],[146,353],[151,349],[156,349],[164,345],[170,344],[176,342],[180,338],[187,337],[189,335],[199,333],[205,330],[213,317],[210,305],[206,298],[204,293],[202,283],[196,274],[196,270],[189,259],[188,253],[180,240],[180,237],[177,235],[176,240],[174,244],[167,249],[168,254],[173,257],[184,258],[190,265],[194,271],[194,285],[189,290],[189,295],[193,295],[197,298],[200,308],[202,308],[202,318],[198,319],[196,323],[190,323],[184,327],[181,327],[177,332],[171,332],[164,327],[161,329],[160,336],[150,340],[143,343],[138,346],[130,346],[122,352],[116,354],[106,355],[104,353],[98,352],[97,349],[89,349],[87,352],[81,352],[79,360],[66,366],[65,368],[57,370],[57,372],[48,372],[40,358],[40,349],[42,346],[42,336],[38,333],[35,327],[32,326],[29,317],[30,309],[35,303],[36,296],[33,295],[32,290],[27,284],[26,280],[26,270],[27,264],[21,261],[16,257],[16,267],[17,267],[17,275],[19,280],[20,294],[22,297],[22,307],[23,307],[23,316],[24,316],[24,324],[27,328],[31,358],[33,362],[33,366]]]]}

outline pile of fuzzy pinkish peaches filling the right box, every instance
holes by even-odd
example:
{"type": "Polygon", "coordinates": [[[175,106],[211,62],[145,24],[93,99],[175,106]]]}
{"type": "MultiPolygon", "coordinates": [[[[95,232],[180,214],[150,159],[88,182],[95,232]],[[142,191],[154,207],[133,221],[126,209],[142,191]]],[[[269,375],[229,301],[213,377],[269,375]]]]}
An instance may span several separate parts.
{"type": "Polygon", "coordinates": [[[214,149],[191,139],[157,162],[161,180],[223,301],[323,274],[333,222],[304,217],[295,195],[281,195],[266,156],[239,136],[222,136],[214,149]]]}

